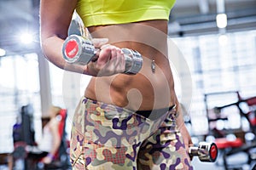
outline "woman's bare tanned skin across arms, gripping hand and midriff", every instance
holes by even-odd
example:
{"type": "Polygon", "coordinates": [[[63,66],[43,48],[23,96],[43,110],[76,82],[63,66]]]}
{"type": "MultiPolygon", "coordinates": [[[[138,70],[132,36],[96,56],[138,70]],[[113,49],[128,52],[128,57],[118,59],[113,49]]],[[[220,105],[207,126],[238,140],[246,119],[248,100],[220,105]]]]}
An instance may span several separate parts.
{"type": "MultiPolygon", "coordinates": [[[[41,44],[44,55],[54,65],[67,71],[92,76],[84,97],[132,111],[150,111],[177,105],[174,82],[167,53],[167,20],[148,20],[114,26],[88,27],[95,39],[96,62],[68,65],[61,48],[67,37],[76,0],[42,0],[40,8],[41,44]],[[108,38],[101,41],[101,38],[108,38]],[[120,48],[131,48],[143,55],[143,68],[137,75],[125,75],[125,62],[120,48]],[[156,69],[151,69],[154,59],[156,69]]],[[[183,116],[177,117],[186,147],[192,144],[183,116]]]]}

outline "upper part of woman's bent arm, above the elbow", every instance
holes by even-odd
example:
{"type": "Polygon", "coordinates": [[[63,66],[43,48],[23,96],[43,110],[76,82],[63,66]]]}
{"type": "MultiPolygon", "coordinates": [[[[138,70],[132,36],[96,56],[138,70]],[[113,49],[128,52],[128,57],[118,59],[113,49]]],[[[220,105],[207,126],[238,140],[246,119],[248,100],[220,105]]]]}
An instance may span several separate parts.
{"type": "Polygon", "coordinates": [[[77,0],[41,0],[40,29],[41,40],[48,37],[67,37],[68,26],[72,20],[77,0]]]}

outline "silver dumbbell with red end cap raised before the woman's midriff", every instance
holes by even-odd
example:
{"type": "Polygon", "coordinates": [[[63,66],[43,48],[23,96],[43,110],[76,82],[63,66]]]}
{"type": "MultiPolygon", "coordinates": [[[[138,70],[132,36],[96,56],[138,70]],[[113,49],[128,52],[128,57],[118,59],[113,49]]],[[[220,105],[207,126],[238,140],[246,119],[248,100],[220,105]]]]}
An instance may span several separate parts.
{"type": "MultiPolygon", "coordinates": [[[[63,58],[70,64],[87,65],[90,61],[96,61],[96,49],[93,43],[84,37],[71,35],[63,44],[63,58]]],[[[137,74],[143,66],[142,55],[135,50],[122,48],[125,56],[126,74],[137,74]]]]}

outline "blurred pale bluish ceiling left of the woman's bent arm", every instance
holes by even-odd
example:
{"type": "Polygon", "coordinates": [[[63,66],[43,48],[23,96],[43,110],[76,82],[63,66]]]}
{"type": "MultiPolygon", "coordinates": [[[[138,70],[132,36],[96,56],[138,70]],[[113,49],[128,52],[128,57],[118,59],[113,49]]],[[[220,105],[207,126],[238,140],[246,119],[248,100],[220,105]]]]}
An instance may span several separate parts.
{"type": "Polygon", "coordinates": [[[8,54],[29,53],[38,43],[39,0],[0,0],[0,48],[8,54]],[[24,46],[19,36],[29,32],[35,37],[33,46],[24,46]]]}

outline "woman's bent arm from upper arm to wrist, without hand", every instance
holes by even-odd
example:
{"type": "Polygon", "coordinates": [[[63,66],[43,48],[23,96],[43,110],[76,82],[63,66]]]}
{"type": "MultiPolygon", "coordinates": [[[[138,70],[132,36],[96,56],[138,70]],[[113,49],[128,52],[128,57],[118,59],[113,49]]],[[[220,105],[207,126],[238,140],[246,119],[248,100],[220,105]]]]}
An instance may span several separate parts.
{"type": "Polygon", "coordinates": [[[41,0],[40,41],[44,57],[68,71],[84,72],[80,65],[67,64],[62,57],[62,45],[78,0],[41,0]]]}

